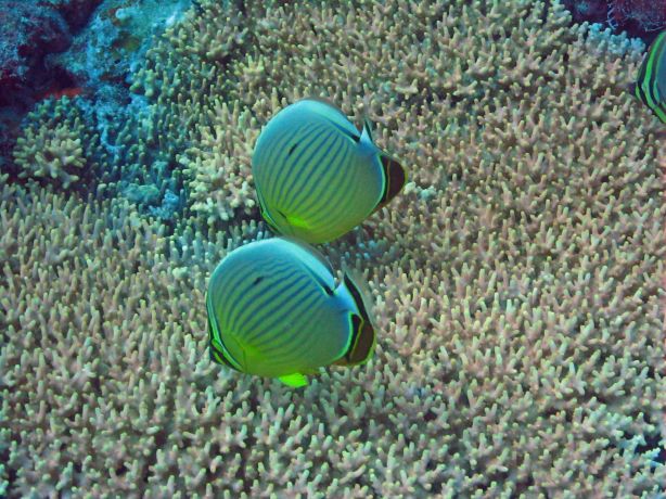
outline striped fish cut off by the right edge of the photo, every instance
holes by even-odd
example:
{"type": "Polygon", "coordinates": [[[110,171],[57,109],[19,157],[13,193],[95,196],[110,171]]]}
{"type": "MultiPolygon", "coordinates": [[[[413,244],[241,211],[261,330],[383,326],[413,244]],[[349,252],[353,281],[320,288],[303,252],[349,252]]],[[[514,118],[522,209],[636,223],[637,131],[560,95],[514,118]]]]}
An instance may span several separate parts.
{"type": "Polygon", "coordinates": [[[638,73],[635,93],[666,123],[666,30],[650,46],[638,73]]]}

